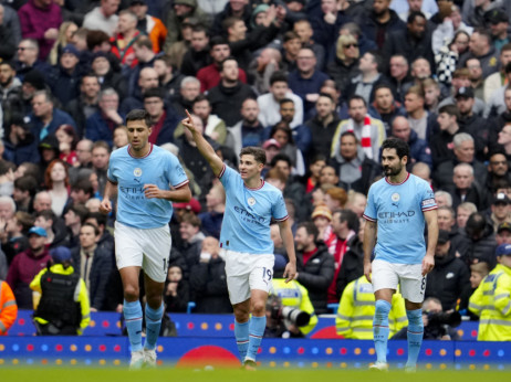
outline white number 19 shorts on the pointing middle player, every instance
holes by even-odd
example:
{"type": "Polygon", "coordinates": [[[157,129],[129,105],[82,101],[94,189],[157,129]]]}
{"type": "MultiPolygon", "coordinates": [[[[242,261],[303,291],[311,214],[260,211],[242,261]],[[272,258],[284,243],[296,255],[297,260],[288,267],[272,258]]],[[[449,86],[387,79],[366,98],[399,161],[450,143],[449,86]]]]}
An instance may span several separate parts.
{"type": "Polygon", "coordinates": [[[232,305],[248,300],[252,289],[270,293],[275,263],[273,254],[251,255],[220,250],[220,257],[226,262],[227,288],[232,305]]]}

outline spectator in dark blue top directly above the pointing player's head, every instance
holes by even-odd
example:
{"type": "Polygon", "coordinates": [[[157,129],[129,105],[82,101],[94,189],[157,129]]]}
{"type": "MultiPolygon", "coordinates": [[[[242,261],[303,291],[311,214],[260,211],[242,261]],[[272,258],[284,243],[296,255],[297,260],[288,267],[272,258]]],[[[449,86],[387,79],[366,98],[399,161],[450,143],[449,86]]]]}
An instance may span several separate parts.
{"type": "Polygon", "coordinates": [[[241,104],[241,120],[229,128],[226,146],[231,148],[236,155],[241,152],[243,147],[262,146],[264,142],[264,125],[259,120],[260,108],[253,98],[247,98],[241,104]]]}

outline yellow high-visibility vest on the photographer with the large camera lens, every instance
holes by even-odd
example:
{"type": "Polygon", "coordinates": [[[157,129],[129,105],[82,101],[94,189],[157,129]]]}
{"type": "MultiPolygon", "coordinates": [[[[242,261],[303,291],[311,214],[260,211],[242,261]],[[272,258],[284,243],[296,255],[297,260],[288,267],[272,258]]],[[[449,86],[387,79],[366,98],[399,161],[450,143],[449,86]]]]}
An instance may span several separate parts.
{"type": "Polygon", "coordinates": [[[272,294],[280,297],[282,304],[286,307],[292,307],[307,312],[311,316],[309,325],[299,328],[303,336],[309,335],[317,325],[317,316],[314,312],[309,291],[299,282],[292,280],[288,284],[283,278],[272,279],[272,294]]]}

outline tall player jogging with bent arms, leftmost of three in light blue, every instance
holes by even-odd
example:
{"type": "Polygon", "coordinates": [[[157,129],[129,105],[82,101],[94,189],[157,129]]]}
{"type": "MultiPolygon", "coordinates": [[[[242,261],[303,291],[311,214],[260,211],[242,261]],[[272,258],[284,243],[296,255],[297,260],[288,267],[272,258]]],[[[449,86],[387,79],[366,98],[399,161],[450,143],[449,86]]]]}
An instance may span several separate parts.
{"type": "Polygon", "coordinates": [[[112,211],[118,192],[115,257],[124,288],[124,318],[132,346],[131,369],[156,365],[156,341],[164,314],[163,291],[170,256],[171,202],[191,198],[188,179],[178,159],[149,144],[150,116],[135,109],[126,116],[129,145],[115,150],[100,210],[112,211]],[[142,306],[138,275],[144,269],[146,341],[142,347],[142,306]]]}

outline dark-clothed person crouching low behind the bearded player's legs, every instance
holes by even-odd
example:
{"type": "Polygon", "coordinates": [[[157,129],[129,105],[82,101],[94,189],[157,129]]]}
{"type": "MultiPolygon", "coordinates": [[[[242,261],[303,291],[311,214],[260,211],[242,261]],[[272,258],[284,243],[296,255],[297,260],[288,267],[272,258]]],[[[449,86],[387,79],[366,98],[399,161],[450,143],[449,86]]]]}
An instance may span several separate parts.
{"type": "MultiPolygon", "coordinates": [[[[461,323],[458,311],[444,312],[438,298],[426,298],[423,304],[424,339],[425,340],[453,340],[460,339],[456,327],[461,323]]],[[[399,330],[393,340],[406,340],[408,327],[399,330]]]]}

